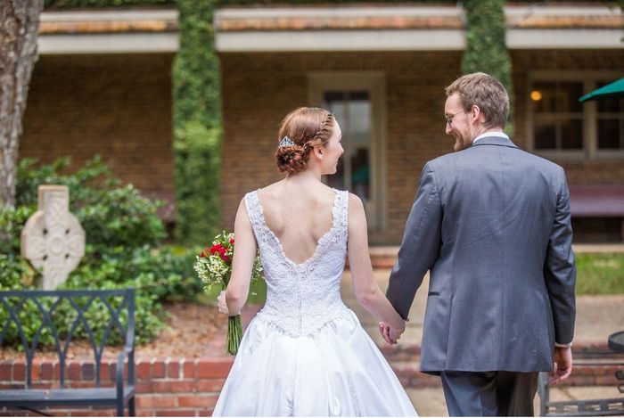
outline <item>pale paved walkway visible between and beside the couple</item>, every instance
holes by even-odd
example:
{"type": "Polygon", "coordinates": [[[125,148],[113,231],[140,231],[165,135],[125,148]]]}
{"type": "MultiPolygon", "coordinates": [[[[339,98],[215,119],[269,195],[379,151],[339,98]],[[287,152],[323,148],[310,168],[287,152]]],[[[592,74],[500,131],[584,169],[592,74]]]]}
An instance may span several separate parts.
{"type": "MultiPolygon", "coordinates": [[[[575,249],[578,250],[578,249],[575,249]]],[[[622,247],[624,250],[624,246],[622,247]]],[[[388,284],[389,269],[375,269],[374,277],[382,291],[388,284]]],[[[415,303],[410,310],[410,322],[406,332],[399,341],[399,346],[420,346],[423,337],[423,316],[426,302],[426,289],[429,286],[429,277],[425,277],[422,288],[416,292],[415,303]]],[[[342,286],[342,298],[345,303],[356,312],[360,322],[371,338],[383,346],[379,335],[378,321],[361,307],[355,298],[349,272],[345,273],[342,286]]],[[[606,348],[607,337],[612,332],[624,329],[624,295],[609,296],[579,296],[577,298],[577,322],[575,333],[575,348],[606,348]]],[[[407,389],[409,397],[421,415],[446,416],[447,409],[441,387],[407,389]]],[[[618,398],[618,390],[612,387],[562,387],[551,391],[552,400],[574,398],[618,398]]],[[[536,414],[538,413],[538,397],[536,397],[536,414]]]]}

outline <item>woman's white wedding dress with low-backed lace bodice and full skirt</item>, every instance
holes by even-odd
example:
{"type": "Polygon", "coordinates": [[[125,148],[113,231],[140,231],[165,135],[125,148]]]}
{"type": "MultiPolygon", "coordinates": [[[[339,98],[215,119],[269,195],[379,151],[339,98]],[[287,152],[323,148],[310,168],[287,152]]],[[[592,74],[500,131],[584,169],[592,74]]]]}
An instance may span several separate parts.
{"type": "Polygon", "coordinates": [[[301,264],[286,257],[267,227],[258,192],[245,196],[267,303],[242,337],[213,416],[416,415],[390,365],[342,302],[349,193],[334,192],[333,226],[301,264]]]}

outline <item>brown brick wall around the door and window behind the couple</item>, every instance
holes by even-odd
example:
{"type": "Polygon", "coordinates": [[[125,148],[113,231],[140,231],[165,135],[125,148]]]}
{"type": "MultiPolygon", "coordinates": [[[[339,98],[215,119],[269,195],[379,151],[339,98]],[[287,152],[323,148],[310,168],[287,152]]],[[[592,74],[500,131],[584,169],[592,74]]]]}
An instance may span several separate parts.
{"type": "MultiPolygon", "coordinates": [[[[273,154],[283,116],[308,104],[312,71],[382,71],[386,83],[386,173],[388,229],[374,244],[400,242],[424,163],[452,152],[444,133],[444,87],[461,73],[460,52],[405,53],[224,53],[223,162],[236,176],[221,182],[222,224],[234,226],[242,195],[282,177],[273,154]]],[[[623,51],[515,51],[515,132],[526,145],[526,90],[530,70],[613,70],[623,51]]],[[[624,160],[557,161],[574,184],[624,182],[624,160]]]]}

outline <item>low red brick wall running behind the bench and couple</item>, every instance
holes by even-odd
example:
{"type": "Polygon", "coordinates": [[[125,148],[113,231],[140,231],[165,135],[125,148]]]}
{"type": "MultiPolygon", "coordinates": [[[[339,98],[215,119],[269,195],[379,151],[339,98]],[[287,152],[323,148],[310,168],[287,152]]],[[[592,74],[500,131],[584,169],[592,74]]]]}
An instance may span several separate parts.
{"type": "MultiPolygon", "coordinates": [[[[399,381],[406,388],[440,386],[439,378],[418,370],[420,348],[382,348],[399,381]]],[[[582,354],[575,354],[575,358],[582,354]]],[[[619,357],[620,359],[620,357],[619,357]]],[[[136,414],[139,416],[210,416],[217,403],[219,392],[232,367],[233,357],[139,358],[135,365],[136,414]]],[[[586,360],[587,361],[587,360],[586,360]]],[[[114,360],[103,361],[100,372],[103,386],[113,386],[116,373],[114,360]]],[[[34,366],[33,381],[36,388],[58,387],[60,367],[58,362],[38,361],[34,366]]],[[[575,365],[568,386],[614,386],[618,365],[575,365]]],[[[26,365],[23,361],[0,363],[0,389],[23,388],[26,365]]],[[[93,386],[94,365],[91,362],[72,361],[66,369],[68,387],[93,386]]],[[[54,415],[114,416],[114,409],[62,409],[44,410],[54,415]]],[[[0,409],[0,415],[38,416],[21,410],[0,409]]]]}

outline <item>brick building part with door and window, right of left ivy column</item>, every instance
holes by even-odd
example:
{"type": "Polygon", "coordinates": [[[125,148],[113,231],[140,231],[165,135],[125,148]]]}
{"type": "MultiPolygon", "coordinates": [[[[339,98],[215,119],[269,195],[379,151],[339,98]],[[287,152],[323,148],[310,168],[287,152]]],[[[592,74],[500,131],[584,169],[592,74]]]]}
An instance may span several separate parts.
{"type": "MultiPolygon", "coordinates": [[[[624,105],[578,98],[624,75],[622,16],[604,6],[507,6],[515,92],[513,141],[562,164],[577,242],[624,234],[624,105]]],[[[461,74],[455,6],[222,8],[224,224],[243,193],[281,177],[273,154],[283,116],[333,111],[345,154],[328,179],[365,201],[374,244],[400,242],[427,160],[452,151],[444,87],[461,74]]]]}

